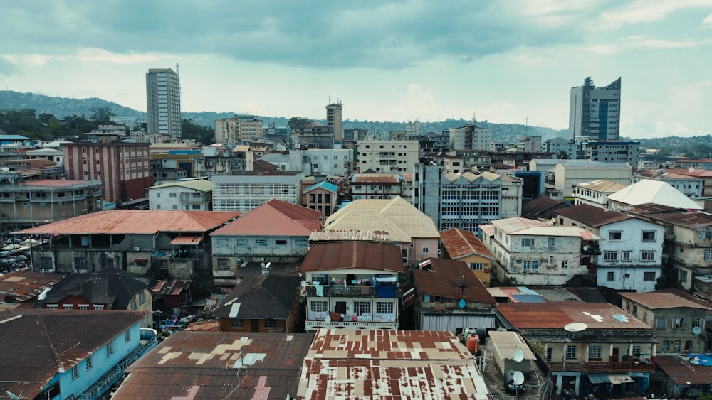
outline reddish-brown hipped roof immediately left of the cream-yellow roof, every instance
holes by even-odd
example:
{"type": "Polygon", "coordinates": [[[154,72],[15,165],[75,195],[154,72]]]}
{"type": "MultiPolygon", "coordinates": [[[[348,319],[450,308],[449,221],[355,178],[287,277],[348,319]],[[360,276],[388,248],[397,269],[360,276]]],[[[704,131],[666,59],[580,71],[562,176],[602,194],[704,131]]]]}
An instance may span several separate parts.
{"type": "Polygon", "coordinates": [[[305,236],[321,229],[323,213],[272,199],[217,229],[216,235],[305,236]]]}

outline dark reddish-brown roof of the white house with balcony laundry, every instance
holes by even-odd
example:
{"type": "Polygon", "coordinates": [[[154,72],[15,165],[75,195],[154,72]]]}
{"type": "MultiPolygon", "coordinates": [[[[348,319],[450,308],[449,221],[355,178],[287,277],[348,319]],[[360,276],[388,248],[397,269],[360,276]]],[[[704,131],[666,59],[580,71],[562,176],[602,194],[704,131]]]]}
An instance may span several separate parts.
{"type": "Polygon", "coordinates": [[[403,272],[400,247],[370,242],[323,242],[312,244],[301,271],[375,269],[403,272]]]}

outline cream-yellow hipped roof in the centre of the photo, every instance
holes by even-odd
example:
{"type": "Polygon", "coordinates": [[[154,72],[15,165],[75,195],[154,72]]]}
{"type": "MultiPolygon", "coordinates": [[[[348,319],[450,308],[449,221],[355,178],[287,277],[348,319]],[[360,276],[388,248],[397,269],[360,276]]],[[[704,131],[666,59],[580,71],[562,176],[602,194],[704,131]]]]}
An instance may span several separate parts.
{"type": "Polygon", "coordinates": [[[433,220],[396,196],[392,199],[358,199],[331,215],[325,230],[381,230],[397,242],[412,238],[439,238],[433,220]]]}

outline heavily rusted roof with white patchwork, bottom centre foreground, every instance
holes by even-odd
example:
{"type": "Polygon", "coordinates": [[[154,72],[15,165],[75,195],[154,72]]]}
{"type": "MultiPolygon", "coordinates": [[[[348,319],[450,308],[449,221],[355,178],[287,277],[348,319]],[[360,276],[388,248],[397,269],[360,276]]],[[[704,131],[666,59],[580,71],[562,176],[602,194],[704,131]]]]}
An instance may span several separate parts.
{"type": "Polygon", "coordinates": [[[450,332],[319,330],[298,398],[489,399],[470,352],[450,332]]]}

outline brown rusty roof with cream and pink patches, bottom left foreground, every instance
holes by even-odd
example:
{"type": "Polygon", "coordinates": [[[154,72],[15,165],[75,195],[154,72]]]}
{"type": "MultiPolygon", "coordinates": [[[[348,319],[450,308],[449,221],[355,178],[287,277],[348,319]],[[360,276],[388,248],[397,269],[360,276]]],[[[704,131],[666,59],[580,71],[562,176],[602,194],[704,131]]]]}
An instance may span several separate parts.
{"type": "Polygon", "coordinates": [[[313,336],[182,331],[132,364],[112,399],[295,397],[313,336]]]}

